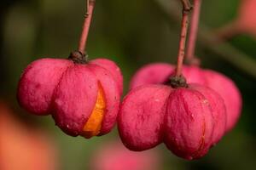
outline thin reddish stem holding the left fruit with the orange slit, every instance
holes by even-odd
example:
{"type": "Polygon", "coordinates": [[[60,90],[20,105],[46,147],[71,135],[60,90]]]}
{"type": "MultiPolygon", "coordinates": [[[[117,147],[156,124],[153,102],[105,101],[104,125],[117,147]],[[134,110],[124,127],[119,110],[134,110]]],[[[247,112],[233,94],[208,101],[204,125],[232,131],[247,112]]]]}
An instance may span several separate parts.
{"type": "Polygon", "coordinates": [[[90,29],[90,21],[93,13],[93,8],[95,6],[96,0],[87,0],[87,11],[84,18],[83,31],[79,41],[79,52],[84,54],[86,47],[87,37],[90,29]]]}

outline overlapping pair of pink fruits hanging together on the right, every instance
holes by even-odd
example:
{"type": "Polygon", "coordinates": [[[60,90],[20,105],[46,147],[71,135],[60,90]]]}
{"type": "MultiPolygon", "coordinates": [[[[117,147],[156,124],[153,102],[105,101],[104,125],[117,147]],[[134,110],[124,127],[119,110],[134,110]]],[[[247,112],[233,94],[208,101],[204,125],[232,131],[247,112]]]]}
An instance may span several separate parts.
{"type": "Polygon", "coordinates": [[[235,84],[215,71],[185,66],[188,85],[182,77],[169,79],[173,72],[166,64],[137,72],[119,111],[119,134],[130,150],[164,142],[177,156],[197,159],[235,125],[241,97],[235,84]],[[163,85],[168,82],[172,87],[163,85]]]}

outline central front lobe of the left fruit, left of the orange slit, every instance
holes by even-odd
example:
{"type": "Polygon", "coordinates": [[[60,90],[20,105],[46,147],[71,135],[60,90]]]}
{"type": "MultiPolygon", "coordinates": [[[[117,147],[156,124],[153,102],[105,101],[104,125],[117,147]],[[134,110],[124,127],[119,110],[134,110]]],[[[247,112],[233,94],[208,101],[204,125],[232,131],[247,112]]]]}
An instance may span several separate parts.
{"type": "Polygon", "coordinates": [[[63,74],[53,95],[55,123],[65,133],[78,136],[96,104],[97,79],[84,65],[63,74]]]}

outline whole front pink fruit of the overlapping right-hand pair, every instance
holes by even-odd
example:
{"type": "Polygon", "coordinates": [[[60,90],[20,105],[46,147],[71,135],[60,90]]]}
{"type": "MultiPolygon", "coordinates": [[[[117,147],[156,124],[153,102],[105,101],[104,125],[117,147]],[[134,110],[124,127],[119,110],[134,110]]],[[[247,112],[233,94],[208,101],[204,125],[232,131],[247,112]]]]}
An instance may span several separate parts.
{"type": "Polygon", "coordinates": [[[224,101],[211,88],[173,79],[171,84],[177,86],[144,85],[126,95],[119,111],[120,137],[130,150],[165,142],[177,156],[198,159],[224,134],[224,101]]]}

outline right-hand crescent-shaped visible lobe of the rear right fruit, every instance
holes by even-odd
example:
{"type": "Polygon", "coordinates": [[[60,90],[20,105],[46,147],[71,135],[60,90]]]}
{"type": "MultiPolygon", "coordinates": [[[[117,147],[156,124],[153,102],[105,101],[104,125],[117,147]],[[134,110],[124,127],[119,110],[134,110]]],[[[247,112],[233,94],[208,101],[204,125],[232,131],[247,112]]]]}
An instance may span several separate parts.
{"type": "Polygon", "coordinates": [[[241,94],[236,84],[229,77],[216,72],[205,70],[203,71],[207,80],[207,86],[212,88],[224,99],[224,104],[227,109],[227,126],[226,132],[235,127],[241,115],[241,94]]]}

